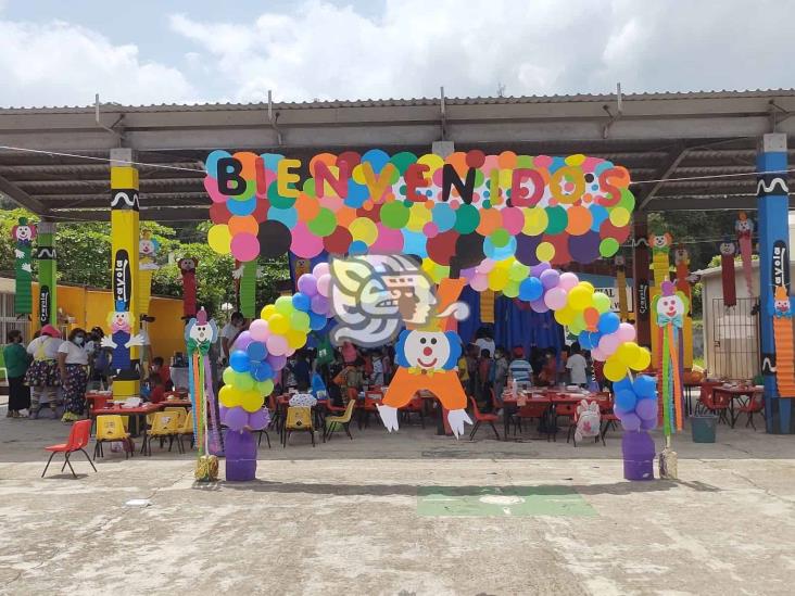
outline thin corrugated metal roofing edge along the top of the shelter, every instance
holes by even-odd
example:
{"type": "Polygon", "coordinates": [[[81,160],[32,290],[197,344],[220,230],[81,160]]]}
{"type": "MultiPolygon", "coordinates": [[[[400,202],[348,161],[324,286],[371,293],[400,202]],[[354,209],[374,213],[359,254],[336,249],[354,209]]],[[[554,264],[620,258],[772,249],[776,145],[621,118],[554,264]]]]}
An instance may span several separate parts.
{"type": "MultiPolygon", "coordinates": [[[[745,91],[666,91],[652,93],[622,93],[623,101],[664,101],[664,100],[707,100],[731,98],[778,98],[795,97],[795,89],[754,89],[745,91]]],[[[615,101],[615,93],[606,94],[559,94],[559,96],[520,96],[520,97],[465,97],[444,98],[446,105],[489,105],[489,104],[519,104],[519,103],[570,103],[570,102],[605,102],[615,101]]],[[[389,107],[389,106],[422,106],[439,105],[440,98],[414,99],[366,99],[366,100],[328,100],[304,102],[274,102],[273,107],[278,110],[338,109],[338,107],[389,107]]],[[[162,103],[150,105],[122,105],[118,103],[102,103],[105,111],[124,112],[203,112],[216,110],[263,110],[266,102],[255,103],[162,103]]],[[[93,105],[86,106],[34,106],[34,107],[0,107],[0,113],[51,113],[79,114],[93,112],[93,105]]]]}

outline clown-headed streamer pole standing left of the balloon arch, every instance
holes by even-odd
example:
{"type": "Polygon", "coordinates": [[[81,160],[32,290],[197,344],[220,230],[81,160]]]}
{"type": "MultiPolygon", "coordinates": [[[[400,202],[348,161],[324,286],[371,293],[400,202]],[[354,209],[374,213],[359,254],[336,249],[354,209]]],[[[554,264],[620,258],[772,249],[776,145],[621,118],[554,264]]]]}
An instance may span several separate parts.
{"type": "Polygon", "coordinates": [[[193,438],[199,449],[197,461],[197,480],[215,480],[210,470],[217,470],[217,460],[209,457],[220,453],[220,423],[218,407],[213,391],[213,376],[210,364],[210,347],[218,338],[218,328],[214,320],[207,320],[204,308],[190,319],[185,328],[185,341],[188,348],[188,389],[193,417],[193,438]],[[207,413],[210,416],[207,416],[207,413]],[[210,424],[210,426],[207,426],[210,424]]]}

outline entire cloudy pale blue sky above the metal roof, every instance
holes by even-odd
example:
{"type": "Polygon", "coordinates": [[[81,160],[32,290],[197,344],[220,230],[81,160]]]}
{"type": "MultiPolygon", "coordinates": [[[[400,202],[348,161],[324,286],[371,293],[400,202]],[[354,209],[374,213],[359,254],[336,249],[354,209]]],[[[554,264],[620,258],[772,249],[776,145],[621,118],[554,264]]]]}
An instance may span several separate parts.
{"type": "Polygon", "coordinates": [[[778,0],[0,0],[0,106],[791,88],[792,22],[778,0]]]}

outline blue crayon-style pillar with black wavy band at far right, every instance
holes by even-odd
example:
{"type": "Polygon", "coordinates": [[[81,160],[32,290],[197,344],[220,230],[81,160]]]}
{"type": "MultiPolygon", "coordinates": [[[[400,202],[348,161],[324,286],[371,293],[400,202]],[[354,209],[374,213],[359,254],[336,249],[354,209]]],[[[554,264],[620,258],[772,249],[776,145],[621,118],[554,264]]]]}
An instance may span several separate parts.
{"type": "Polygon", "coordinates": [[[795,395],[790,395],[793,392],[785,389],[791,385],[786,378],[791,375],[785,371],[793,368],[792,324],[790,319],[786,319],[786,325],[781,325],[781,318],[777,320],[773,301],[777,288],[780,292],[785,290],[785,295],[790,294],[790,196],[785,169],[786,135],[765,135],[757,155],[759,329],[767,431],[777,434],[795,432],[792,419],[795,395]],[[785,332],[787,327],[788,334],[785,332]]]}

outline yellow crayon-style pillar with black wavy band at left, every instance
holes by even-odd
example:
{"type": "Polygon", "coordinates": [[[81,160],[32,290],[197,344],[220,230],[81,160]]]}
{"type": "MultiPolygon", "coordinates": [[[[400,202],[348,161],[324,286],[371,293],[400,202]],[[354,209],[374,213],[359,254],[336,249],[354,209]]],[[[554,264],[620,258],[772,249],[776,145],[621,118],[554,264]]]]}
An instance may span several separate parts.
{"type": "Polygon", "coordinates": [[[131,149],[111,150],[111,293],[109,316],[113,340],[114,397],[137,396],[140,372],[136,345],[141,312],[138,288],[140,234],[138,170],[130,165],[131,149]]]}

